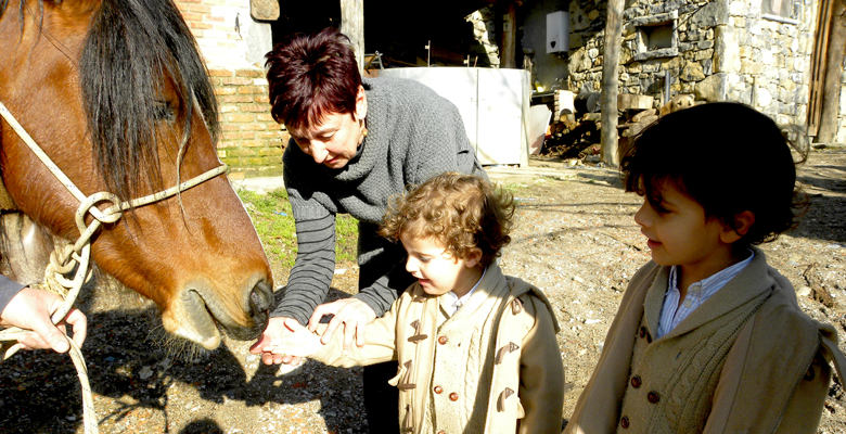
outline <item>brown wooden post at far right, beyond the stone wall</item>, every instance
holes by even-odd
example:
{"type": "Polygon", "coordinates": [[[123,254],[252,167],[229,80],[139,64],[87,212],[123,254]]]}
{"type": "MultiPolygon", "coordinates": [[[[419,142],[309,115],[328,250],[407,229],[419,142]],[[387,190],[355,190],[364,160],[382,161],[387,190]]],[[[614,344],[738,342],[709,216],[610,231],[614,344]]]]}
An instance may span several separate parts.
{"type": "Polygon", "coordinates": [[[822,91],[822,105],[820,113],[820,129],[817,132],[817,142],[831,143],[837,136],[837,119],[839,118],[841,103],[841,73],[843,68],[844,44],[846,43],[846,21],[844,13],[846,4],[844,0],[834,0],[831,18],[831,31],[825,60],[825,81],[822,91]]]}

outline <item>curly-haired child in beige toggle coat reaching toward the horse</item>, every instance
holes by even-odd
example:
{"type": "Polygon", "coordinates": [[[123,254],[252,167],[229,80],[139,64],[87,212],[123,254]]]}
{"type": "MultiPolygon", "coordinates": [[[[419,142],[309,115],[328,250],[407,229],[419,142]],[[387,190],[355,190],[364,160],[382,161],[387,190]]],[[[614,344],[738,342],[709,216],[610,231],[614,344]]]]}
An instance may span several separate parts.
{"type": "Polygon", "coordinates": [[[431,178],[388,207],[380,233],[400,240],[418,279],[364,346],[343,349],[286,322],[293,334],[274,354],[333,366],[398,360],[402,433],[561,432],[564,367],[547,297],[503,276],[495,263],[514,214],[513,199],[471,175],[431,178]]]}

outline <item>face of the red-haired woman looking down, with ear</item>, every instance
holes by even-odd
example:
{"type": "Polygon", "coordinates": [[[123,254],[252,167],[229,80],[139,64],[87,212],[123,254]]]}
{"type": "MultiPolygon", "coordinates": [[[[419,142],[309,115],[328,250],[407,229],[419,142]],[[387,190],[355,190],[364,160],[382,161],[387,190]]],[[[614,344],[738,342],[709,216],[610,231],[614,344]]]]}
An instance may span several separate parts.
{"type": "Polygon", "coordinates": [[[356,95],[356,113],[329,113],[320,124],[290,128],[289,132],[299,149],[315,158],[315,163],[339,169],[349,163],[364,140],[361,124],[367,115],[364,89],[356,95]]]}

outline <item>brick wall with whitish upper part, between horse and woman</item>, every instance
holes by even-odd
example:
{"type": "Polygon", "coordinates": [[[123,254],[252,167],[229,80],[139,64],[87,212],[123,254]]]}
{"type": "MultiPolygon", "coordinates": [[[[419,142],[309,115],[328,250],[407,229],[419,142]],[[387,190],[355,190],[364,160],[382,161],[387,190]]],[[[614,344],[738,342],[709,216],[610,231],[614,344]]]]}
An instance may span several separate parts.
{"type": "Polygon", "coordinates": [[[270,116],[264,55],[268,24],[249,16],[248,0],[177,0],[209,71],[220,107],[217,144],[230,178],[282,173],[287,133],[270,116]]]}

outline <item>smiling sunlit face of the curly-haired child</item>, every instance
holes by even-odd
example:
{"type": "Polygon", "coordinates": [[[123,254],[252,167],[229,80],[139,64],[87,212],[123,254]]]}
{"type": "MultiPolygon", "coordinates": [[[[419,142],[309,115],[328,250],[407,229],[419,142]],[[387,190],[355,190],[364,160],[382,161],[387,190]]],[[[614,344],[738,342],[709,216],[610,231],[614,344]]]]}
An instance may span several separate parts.
{"type": "Polygon", "coordinates": [[[408,235],[399,238],[408,252],[406,270],[418,278],[426,294],[441,295],[453,291],[459,297],[476,285],[482,277],[478,260],[482,251],[475,248],[470,258],[460,259],[433,239],[408,235]]]}

